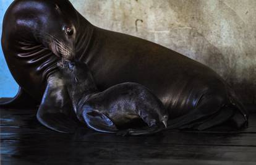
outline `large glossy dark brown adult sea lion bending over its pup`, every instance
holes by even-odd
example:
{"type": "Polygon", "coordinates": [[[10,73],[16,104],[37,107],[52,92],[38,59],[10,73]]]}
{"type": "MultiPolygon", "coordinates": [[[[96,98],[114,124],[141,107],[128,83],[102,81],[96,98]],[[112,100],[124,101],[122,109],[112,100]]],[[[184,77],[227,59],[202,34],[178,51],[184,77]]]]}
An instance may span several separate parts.
{"type": "Polygon", "coordinates": [[[67,0],[14,1],[4,16],[2,48],[22,93],[1,104],[41,101],[39,121],[60,132],[75,124],[67,124],[74,112],[58,56],[87,64],[100,91],[124,82],[149,88],[168,109],[170,129],[207,129],[226,121],[247,127],[242,103],[209,67],[159,44],[95,27],[67,0]]]}

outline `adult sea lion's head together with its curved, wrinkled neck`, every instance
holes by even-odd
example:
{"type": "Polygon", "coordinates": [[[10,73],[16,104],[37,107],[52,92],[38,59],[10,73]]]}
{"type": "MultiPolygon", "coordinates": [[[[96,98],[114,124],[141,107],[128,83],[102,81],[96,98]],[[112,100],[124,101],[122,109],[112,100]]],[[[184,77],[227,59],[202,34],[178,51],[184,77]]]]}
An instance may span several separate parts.
{"type": "Polygon", "coordinates": [[[2,48],[7,64],[19,85],[38,101],[59,57],[74,57],[77,17],[69,1],[14,1],[6,12],[2,48]]]}

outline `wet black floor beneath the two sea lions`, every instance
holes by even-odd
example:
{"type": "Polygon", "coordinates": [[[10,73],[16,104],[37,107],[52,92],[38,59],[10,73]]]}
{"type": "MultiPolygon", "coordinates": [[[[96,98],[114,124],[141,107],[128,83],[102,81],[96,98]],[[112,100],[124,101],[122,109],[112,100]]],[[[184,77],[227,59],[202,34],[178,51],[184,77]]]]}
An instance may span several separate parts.
{"type": "Polygon", "coordinates": [[[166,131],[119,137],[80,129],[53,132],[35,109],[0,109],[1,164],[256,164],[256,113],[241,132],[166,131]]]}

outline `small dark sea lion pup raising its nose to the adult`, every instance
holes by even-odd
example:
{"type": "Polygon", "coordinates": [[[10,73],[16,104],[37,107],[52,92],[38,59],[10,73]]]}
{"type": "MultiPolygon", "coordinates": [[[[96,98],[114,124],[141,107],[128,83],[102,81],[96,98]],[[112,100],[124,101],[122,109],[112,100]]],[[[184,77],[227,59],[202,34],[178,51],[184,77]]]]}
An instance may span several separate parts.
{"type": "Polygon", "coordinates": [[[58,66],[77,118],[91,129],[119,135],[145,135],[167,127],[167,109],[146,87],[127,82],[100,92],[86,64],[61,61],[58,66]],[[143,124],[149,129],[142,129],[143,124]],[[141,129],[137,130],[138,127],[141,129]]]}

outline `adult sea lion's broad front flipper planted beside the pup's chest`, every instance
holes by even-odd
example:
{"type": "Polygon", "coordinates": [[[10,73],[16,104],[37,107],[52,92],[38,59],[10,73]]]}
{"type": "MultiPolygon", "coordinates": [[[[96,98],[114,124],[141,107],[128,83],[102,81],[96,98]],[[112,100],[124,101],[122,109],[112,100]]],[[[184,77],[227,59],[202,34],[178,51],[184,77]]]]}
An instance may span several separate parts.
{"type": "Polygon", "coordinates": [[[58,72],[48,78],[36,117],[41,124],[57,132],[74,133],[79,127],[64,80],[58,72]]]}

